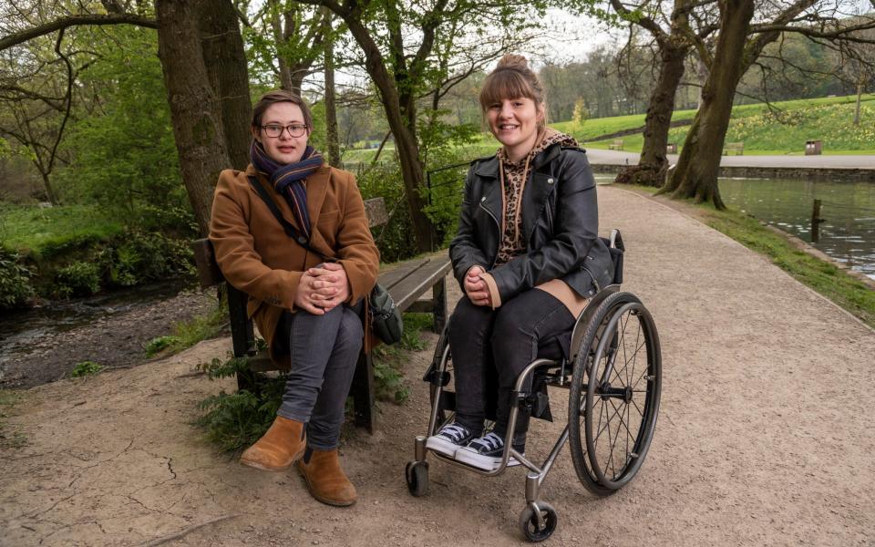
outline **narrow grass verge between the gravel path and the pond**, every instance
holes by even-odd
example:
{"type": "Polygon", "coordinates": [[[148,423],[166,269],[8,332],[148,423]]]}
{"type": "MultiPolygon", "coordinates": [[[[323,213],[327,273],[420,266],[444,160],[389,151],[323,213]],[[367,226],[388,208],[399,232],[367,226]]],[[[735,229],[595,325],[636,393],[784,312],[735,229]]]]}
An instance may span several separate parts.
{"type": "Polygon", "coordinates": [[[787,274],[875,328],[875,291],[868,285],[835,264],[800,251],[786,237],[767,229],[753,217],[731,209],[716,211],[707,204],[697,207],[704,213],[707,225],[766,255],[787,274]]]}

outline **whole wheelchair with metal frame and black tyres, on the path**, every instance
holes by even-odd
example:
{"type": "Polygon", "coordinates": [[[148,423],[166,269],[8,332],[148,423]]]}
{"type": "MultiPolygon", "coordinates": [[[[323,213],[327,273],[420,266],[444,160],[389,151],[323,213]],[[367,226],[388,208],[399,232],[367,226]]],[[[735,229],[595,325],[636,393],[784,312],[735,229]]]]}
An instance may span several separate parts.
{"type": "MultiPolygon", "coordinates": [[[[556,530],[557,512],[540,500],[540,486],[566,443],[583,486],[596,496],[608,496],[623,488],[641,469],[654,435],[662,383],[659,336],[641,300],[620,291],[624,252],[620,232],[613,230],[610,238],[602,240],[608,244],[614,263],[612,284],[601,287],[578,316],[564,351],[557,340],[541,341],[538,358],[517,377],[511,395],[506,439],[513,439],[520,412],[552,420],[548,387],[569,390],[568,423],[547,458],[538,465],[508,442],[499,467],[480,470],[431,452],[435,459],[490,477],[503,473],[511,456],[517,459],[529,470],[526,505],[520,512],[519,525],[531,542],[544,541],[556,530]],[[530,387],[526,387],[530,376],[530,387]]],[[[454,416],[456,394],[448,389],[452,370],[445,327],[423,377],[431,398],[427,435],[417,436],[415,458],[407,462],[405,469],[407,489],[417,497],[428,492],[426,440],[454,416]]],[[[494,406],[493,402],[490,411],[487,402],[488,418],[494,419],[494,406]]]]}

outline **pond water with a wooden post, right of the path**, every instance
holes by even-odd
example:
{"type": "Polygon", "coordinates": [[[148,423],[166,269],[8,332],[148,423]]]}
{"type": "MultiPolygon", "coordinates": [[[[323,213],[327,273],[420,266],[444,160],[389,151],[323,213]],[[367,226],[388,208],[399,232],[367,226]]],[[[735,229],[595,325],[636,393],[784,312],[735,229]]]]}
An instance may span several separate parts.
{"type": "Polygon", "coordinates": [[[721,179],[726,204],[792,233],[833,260],[875,279],[875,183],[783,179],[721,179]],[[820,200],[819,238],[811,212],[820,200]]]}

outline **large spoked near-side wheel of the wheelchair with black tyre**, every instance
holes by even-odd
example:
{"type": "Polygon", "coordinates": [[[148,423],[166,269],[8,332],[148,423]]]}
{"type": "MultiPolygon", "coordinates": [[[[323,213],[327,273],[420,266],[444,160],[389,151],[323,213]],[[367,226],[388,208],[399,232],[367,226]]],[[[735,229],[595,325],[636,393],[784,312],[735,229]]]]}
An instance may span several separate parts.
{"type": "Polygon", "coordinates": [[[634,294],[611,294],[586,327],[571,377],[571,460],[587,490],[609,495],[641,468],[661,382],[653,317],[634,294]]]}

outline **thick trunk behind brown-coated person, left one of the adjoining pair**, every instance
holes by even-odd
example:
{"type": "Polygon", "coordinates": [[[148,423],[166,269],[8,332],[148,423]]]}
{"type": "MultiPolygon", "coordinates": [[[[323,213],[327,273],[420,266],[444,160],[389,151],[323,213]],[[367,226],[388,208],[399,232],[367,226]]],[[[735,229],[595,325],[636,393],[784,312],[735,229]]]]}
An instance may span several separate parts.
{"type": "MultiPolygon", "coordinates": [[[[210,85],[199,39],[208,2],[156,0],[158,55],[180,155],[182,181],[202,234],[210,230],[212,191],[219,172],[231,165],[221,121],[221,105],[210,85]]],[[[239,90],[238,90],[239,92],[239,90]]]]}

